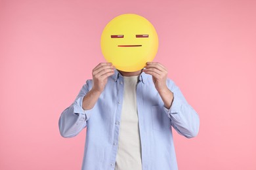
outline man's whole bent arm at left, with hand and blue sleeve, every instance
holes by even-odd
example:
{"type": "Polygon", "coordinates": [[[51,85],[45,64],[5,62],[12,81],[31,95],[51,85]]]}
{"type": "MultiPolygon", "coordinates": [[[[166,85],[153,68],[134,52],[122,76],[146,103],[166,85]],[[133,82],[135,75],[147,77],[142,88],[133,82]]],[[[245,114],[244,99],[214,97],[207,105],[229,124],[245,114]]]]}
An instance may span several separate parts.
{"type": "Polygon", "coordinates": [[[62,137],[74,137],[87,126],[87,120],[93,112],[100,93],[104,90],[108,76],[113,74],[114,67],[111,63],[100,63],[93,69],[93,82],[88,80],[83,85],[74,103],[60,116],[58,126],[62,137]]]}

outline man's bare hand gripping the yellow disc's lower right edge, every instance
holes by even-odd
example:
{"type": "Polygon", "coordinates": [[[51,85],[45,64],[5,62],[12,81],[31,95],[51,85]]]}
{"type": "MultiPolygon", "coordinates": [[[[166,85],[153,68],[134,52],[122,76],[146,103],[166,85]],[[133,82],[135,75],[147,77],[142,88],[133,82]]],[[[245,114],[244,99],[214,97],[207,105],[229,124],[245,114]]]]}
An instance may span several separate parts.
{"type": "Polygon", "coordinates": [[[166,79],[168,71],[163,65],[156,62],[147,62],[143,71],[148,75],[152,75],[153,82],[158,92],[167,90],[166,79]]]}

